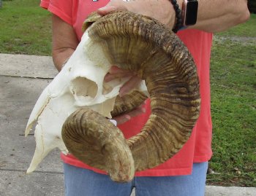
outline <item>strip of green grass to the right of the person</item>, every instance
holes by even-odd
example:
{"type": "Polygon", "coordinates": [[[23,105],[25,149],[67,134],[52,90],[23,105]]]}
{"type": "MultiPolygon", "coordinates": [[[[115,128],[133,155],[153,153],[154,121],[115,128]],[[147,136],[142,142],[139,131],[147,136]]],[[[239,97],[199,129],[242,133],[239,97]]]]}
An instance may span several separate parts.
{"type": "Polygon", "coordinates": [[[256,30],[247,23],[217,34],[211,58],[214,156],[208,184],[256,187],[256,30]]]}

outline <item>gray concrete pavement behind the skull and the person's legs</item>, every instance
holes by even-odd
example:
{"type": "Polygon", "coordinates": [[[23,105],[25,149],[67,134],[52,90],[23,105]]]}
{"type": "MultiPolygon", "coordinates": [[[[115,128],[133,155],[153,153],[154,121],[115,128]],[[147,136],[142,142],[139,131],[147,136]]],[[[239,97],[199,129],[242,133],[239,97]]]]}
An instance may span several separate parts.
{"type": "MultiPolygon", "coordinates": [[[[50,57],[0,54],[0,196],[64,195],[58,150],[26,174],[35,149],[34,136],[24,137],[26,122],[56,74],[50,57]]],[[[206,196],[224,195],[255,196],[256,188],[206,187],[206,196]]]]}

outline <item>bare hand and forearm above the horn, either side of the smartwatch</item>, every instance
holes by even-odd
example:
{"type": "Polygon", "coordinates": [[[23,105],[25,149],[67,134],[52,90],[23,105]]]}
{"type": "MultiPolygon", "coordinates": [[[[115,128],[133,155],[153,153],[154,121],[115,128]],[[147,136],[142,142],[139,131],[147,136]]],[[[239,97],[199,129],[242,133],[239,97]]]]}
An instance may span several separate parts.
{"type": "MultiPolygon", "coordinates": [[[[182,9],[183,0],[177,0],[182,9]]],[[[130,12],[148,15],[159,20],[168,28],[175,26],[176,13],[170,0],[112,0],[98,10],[100,15],[115,10],[129,10],[130,12]]],[[[249,10],[246,0],[198,0],[196,28],[202,31],[217,32],[244,23],[249,19],[249,10]]]]}

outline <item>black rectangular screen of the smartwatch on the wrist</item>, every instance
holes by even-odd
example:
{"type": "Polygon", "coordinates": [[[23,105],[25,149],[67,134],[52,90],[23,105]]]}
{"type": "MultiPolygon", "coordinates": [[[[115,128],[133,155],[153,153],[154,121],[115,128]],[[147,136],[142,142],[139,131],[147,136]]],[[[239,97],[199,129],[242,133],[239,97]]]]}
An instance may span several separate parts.
{"type": "Polygon", "coordinates": [[[197,8],[198,2],[197,1],[187,1],[187,9],[186,9],[186,26],[195,25],[197,22],[197,8]]]}

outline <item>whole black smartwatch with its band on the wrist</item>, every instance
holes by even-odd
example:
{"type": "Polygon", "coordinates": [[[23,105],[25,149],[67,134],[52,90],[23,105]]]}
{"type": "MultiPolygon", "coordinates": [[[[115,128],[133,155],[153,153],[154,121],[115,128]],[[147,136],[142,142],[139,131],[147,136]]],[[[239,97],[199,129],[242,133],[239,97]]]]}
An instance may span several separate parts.
{"type": "Polygon", "coordinates": [[[192,26],[197,23],[197,0],[184,0],[182,4],[183,26],[192,26]]]}

